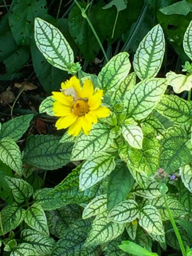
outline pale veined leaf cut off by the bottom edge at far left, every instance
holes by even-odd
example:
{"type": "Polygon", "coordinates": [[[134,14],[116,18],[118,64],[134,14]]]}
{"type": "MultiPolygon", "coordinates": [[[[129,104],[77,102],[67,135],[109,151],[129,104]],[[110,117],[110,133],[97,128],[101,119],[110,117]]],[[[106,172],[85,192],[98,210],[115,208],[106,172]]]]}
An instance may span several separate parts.
{"type": "Polygon", "coordinates": [[[39,253],[29,243],[21,243],[10,256],[39,256],[39,253]]]}

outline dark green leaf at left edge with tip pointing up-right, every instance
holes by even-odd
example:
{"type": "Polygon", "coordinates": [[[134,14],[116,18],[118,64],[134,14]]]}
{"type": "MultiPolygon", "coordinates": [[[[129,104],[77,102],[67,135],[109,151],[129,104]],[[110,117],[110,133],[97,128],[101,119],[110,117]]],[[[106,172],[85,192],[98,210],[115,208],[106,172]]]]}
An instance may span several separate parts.
{"type": "Polygon", "coordinates": [[[33,114],[28,114],[5,122],[1,127],[0,138],[10,137],[14,141],[17,141],[28,129],[32,118],[33,114]]]}

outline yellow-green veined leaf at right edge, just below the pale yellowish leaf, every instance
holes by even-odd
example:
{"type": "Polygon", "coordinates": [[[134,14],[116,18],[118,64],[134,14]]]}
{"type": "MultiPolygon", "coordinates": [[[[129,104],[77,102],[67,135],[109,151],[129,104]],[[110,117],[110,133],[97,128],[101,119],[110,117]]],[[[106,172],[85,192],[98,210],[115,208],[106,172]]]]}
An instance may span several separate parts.
{"type": "Polygon", "coordinates": [[[192,103],[175,95],[164,95],[156,110],[177,124],[192,124],[192,103]]]}

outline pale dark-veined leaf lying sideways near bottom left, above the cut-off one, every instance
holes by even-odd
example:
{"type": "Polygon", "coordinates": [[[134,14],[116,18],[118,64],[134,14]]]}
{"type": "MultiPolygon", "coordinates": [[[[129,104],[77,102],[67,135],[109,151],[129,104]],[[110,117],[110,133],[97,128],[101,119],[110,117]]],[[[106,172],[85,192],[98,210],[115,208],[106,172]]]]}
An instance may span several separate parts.
{"type": "Polygon", "coordinates": [[[55,241],[52,237],[32,229],[24,229],[21,232],[21,239],[23,243],[28,243],[40,254],[51,254],[54,248],[55,241]]]}

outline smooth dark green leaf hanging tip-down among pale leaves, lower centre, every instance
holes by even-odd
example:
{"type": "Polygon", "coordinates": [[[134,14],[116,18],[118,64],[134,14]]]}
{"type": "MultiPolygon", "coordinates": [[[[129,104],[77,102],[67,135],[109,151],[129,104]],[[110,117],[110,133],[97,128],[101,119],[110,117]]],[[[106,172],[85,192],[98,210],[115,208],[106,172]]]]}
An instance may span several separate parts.
{"type": "Polygon", "coordinates": [[[118,163],[109,175],[107,192],[107,208],[110,211],[118,203],[124,201],[133,186],[134,179],[130,174],[126,163],[118,163]]]}

